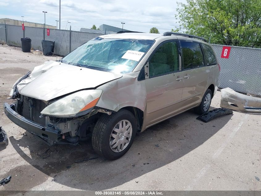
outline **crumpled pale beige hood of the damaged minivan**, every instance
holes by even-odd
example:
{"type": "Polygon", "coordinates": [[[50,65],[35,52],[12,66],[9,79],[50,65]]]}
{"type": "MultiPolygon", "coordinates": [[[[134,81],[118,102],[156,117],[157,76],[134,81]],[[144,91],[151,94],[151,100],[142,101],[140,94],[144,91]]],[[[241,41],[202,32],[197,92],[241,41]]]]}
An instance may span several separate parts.
{"type": "Polygon", "coordinates": [[[35,67],[17,88],[21,95],[49,101],[78,90],[95,88],[120,77],[121,74],[48,61],[35,67]]]}

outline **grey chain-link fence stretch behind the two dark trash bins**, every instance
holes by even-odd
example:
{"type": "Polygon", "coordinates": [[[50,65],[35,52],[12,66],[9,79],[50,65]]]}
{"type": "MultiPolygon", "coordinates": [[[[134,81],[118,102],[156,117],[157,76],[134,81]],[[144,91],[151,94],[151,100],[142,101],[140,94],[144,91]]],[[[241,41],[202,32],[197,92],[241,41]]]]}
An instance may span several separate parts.
{"type": "Polygon", "coordinates": [[[32,40],[32,49],[42,51],[42,40],[44,39],[55,41],[54,54],[65,56],[87,41],[103,35],[101,33],[86,33],[50,28],[50,34],[48,36],[46,29],[47,28],[25,26],[23,32],[22,26],[0,24],[0,41],[2,40],[11,46],[22,47],[21,38],[23,38],[24,33],[24,37],[29,37],[32,40]]]}

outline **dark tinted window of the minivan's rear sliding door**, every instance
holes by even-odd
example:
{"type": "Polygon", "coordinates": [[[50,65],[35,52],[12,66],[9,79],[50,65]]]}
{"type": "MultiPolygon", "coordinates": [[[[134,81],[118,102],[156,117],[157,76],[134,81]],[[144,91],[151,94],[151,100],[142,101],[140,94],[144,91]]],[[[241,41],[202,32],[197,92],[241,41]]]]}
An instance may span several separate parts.
{"type": "Polygon", "coordinates": [[[184,69],[204,65],[203,54],[199,43],[181,41],[184,69]]]}

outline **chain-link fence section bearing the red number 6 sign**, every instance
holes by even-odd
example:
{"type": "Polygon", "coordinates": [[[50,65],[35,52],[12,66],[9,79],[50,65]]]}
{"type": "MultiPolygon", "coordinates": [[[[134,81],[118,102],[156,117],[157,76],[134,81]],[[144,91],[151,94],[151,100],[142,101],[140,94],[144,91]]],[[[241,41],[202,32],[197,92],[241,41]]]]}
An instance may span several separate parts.
{"type": "Polygon", "coordinates": [[[261,95],[261,49],[231,47],[229,58],[221,58],[222,45],[213,44],[221,66],[219,87],[261,95]]]}

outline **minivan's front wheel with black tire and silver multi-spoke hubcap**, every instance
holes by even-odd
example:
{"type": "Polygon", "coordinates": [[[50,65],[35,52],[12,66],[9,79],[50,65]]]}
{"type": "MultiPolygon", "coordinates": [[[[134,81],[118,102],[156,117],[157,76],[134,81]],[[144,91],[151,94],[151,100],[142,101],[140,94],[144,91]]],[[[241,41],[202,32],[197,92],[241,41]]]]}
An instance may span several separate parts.
{"type": "Polygon", "coordinates": [[[130,111],[121,109],[111,115],[103,114],[93,129],[92,147],[97,154],[106,159],[118,159],[129,150],[136,132],[137,121],[130,111]],[[113,148],[115,146],[117,147],[113,148]]]}

